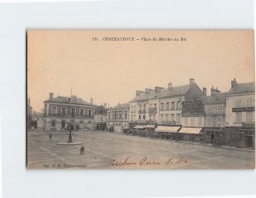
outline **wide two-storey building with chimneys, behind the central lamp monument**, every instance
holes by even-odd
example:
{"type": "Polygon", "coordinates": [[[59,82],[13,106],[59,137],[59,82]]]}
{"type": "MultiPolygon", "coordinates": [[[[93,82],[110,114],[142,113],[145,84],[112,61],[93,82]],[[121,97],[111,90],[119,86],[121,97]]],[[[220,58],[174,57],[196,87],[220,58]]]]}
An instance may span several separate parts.
{"type": "Polygon", "coordinates": [[[94,111],[93,99],[89,103],[75,95],[54,98],[54,93],[49,93],[49,99],[44,101],[44,128],[60,131],[71,126],[73,130],[93,130],[94,111]]]}

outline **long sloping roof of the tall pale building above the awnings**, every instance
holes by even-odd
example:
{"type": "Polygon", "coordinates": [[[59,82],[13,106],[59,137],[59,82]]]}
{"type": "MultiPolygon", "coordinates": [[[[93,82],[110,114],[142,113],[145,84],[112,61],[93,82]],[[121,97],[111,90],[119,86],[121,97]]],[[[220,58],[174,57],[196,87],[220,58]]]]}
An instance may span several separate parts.
{"type": "Polygon", "coordinates": [[[157,90],[156,92],[151,91],[148,93],[141,93],[137,95],[133,101],[140,101],[140,100],[147,100],[147,99],[161,99],[166,97],[174,97],[178,95],[184,95],[189,91],[189,88],[191,88],[190,85],[183,85],[183,86],[177,86],[172,88],[161,88],[157,90]]]}

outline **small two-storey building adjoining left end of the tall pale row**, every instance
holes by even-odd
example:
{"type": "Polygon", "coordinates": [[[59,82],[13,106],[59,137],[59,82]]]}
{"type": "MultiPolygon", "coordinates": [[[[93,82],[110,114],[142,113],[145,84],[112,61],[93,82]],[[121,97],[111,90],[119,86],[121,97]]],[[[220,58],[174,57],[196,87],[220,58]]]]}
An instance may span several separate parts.
{"type": "Polygon", "coordinates": [[[119,104],[107,110],[108,131],[123,132],[129,127],[130,105],[128,103],[119,104]]]}

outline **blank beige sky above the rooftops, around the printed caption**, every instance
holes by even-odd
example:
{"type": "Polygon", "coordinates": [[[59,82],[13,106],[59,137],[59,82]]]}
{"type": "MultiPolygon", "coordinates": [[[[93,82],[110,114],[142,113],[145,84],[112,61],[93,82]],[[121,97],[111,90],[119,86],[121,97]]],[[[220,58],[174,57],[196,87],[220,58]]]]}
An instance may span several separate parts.
{"type": "Polygon", "coordinates": [[[253,44],[253,31],[32,30],[27,96],[38,111],[50,92],[70,97],[71,89],[85,101],[110,106],[131,101],[136,90],[185,85],[189,78],[207,94],[212,86],[225,92],[234,78],[255,81],[253,44]],[[109,37],[134,41],[104,41],[109,37]]]}

